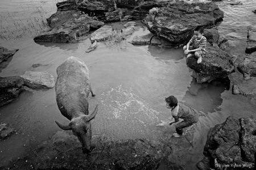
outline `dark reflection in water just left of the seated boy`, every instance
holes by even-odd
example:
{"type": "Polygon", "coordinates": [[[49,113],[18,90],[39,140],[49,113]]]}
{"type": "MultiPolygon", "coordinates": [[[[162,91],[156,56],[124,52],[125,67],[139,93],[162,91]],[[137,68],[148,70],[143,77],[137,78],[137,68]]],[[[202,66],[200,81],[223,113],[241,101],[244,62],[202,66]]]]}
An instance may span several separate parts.
{"type": "Polygon", "coordinates": [[[181,48],[160,48],[159,46],[148,45],[148,52],[150,52],[151,56],[155,57],[155,59],[159,59],[162,61],[166,61],[168,59],[174,59],[176,61],[183,59],[183,49],[181,48]]]}

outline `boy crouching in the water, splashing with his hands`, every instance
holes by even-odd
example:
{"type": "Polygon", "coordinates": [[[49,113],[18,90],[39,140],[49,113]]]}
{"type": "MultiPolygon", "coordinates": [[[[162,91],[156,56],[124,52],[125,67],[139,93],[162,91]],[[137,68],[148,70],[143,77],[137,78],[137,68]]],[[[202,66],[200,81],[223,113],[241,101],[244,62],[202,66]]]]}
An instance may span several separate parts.
{"type": "Polygon", "coordinates": [[[179,121],[179,118],[182,118],[183,121],[179,122],[179,124],[175,125],[176,132],[172,134],[174,137],[183,137],[185,134],[183,133],[183,128],[187,128],[199,120],[199,113],[193,109],[185,106],[182,103],[178,103],[177,98],[174,96],[169,96],[165,99],[166,107],[171,109],[172,117],[174,117],[174,121],[171,121],[169,125],[174,124],[179,121]]]}

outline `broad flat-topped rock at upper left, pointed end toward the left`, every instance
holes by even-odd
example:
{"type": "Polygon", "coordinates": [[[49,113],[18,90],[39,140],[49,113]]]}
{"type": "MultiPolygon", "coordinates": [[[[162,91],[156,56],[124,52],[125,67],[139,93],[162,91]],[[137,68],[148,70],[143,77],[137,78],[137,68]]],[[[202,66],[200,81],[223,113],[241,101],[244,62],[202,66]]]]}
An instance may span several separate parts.
{"type": "Polygon", "coordinates": [[[100,28],[104,22],[94,20],[80,11],[57,11],[48,23],[51,29],[34,38],[34,41],[77,42],[91,29],[100,28]],[[57,14],[60,13],[60,14],[57,14]]]}

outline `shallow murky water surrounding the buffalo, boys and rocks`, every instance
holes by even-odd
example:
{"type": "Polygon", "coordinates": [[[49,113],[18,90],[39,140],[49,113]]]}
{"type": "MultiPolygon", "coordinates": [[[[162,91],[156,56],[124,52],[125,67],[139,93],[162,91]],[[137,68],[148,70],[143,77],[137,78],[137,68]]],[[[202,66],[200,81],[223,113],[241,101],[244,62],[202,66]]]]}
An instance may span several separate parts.
{"type": "MultiPolygon", "coordinates": [[[[76,44],[34,42],[32,37],[43,27],[36,23],[56,11],[56,2],[3,0],[0,6],[0,46],[18,48],[19,51],[5,62],[5,67],[0,67],[0,76],[22,75],[30,70],[47,71],[56,78],[56,68],[60,63],[70,56],[81,58],[90,70],[92,89],[96,92],[96,97],[88,97],[89,112],[99,104],[98,114],[92,122],[93,134],[156,139],[162,134],[159,130],[172,133],[174,126],[156,125],[170,117],[164,97],[175,95],[189,107],[200,111],[201,117],[191,127],[193,133],[188,134],[193,148],[185,139],[175,139],[181,145],[167,159],[183,164],[186,169],[195,169],[195,164],[203,158],[209,128],[224,122],[230,115],[248,116],[255,110],[245,97],[231,94],[230,86],[233,84],[228,79],[209,84],[195,83],[191,70],[185,64],[182,49],[126,42],[125,49],[109,49],[100,44],[97,50],[85,53],[89,40],[76,44]],[[33,68],[34,63],[45,66],[33,68]]],[[[225,12],[224,21],[218,26],[219,32],[237,32],[241,36],[241,44],[236,49],[229,49],[229,52],[244,54],[246,26],[256,24],[256,15],[251,12],[256,2],[241,1],[242,6],[230,6],[228,2],[218,3],[225,12]]],[[[141,28],[133,36],[147,32],[141,28]]],[[[233,75],[242,79],[240,73],[233,75]]],[[[231,80],[233,75],[229,76],[231,80]]],[[[9,123],[16,129],[16,134],[0,141],[0,167],[51,138],[60,130],[55,120],[68,124],[57,108],[55,88],[26,88],[17,100],[1,107],[0,123],[9,123]]],[[[162,164],[159,169],[167,167],[162,164]]]]}

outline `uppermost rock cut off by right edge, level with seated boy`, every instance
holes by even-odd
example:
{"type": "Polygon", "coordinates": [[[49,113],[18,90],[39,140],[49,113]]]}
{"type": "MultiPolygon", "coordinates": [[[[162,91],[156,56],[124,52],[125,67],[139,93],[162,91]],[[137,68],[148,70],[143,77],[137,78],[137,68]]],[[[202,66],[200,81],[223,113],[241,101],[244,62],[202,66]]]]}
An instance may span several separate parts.
{"type": "Polygon", "coordinates": [[[247,47],[245,52],[250,54],[256,52],[256,27],[248,26],[247,28],[247,47]]]}

